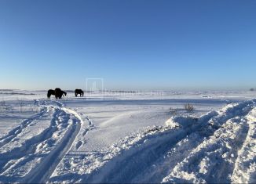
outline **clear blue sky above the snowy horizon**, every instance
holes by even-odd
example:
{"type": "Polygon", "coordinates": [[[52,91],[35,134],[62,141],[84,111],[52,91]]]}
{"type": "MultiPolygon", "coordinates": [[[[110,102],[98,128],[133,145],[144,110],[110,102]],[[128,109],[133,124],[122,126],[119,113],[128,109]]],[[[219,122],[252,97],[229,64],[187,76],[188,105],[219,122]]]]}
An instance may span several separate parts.
{"type": "Polygon", "coordinates": [[[256,87],[256,1],[0,1],[0,88],[256,87]]]}

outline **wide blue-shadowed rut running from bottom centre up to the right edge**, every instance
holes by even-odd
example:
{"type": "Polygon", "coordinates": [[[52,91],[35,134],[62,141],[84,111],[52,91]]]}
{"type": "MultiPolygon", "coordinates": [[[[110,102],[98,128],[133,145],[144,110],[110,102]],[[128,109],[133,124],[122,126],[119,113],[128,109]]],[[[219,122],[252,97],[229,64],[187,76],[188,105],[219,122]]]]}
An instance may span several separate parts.
{"type": "MultiPolygon", "coordinates": [[[[201,136],[199,137],[199,143],[196,143],[196,145],[192,144],[192,147],[189,147],[190,150],[193,150],[197,145],[203,142],[205,136],[210,137],[210,135],[213,135],[214,132],[221,128],[229,119],[248,114],[253,105],[253,101],[240,103],[236,106],[228,107],[224,112],[220,112],[219,114],[212,112],[212,114],[201,117],[197,121],[190,122],[192,124],[191,126],[188,125],[188,127],[177,128],[173,132],[166,134],[159,134],[155,136],[154,139],[148,139],[147,142],[133,146],[130,150],[125,150],[117,157],[112,158],[112,160],[108,161],[96,174],[90,176],[89,179],[82,180],[82,182],[162,182],[164,178],[163,173],[168,174],[168,171],[172,169],[170,165],[168,165],[168,161],[173,161],[171,165],[177,165],[179,161],[172,159],[166,160],[166,163],[163,161],[163,163],[165,163],[164,167],[162,165],[161,168],[157,168],[159,167],[159,158],[166,157],[168,152],[174,148],[174,146],[177,146],[177,143],[184,140],[187,136],[192,135],[192,133],[198,132],[199,136],[201,136]],[[210,133],[202,131],[202,128],[206,128],[210,133]],[[148,175],[152,175],[152,177],[148,177],[148,175]],[[155,175],[161,175],[161,177],[156,177],[155,179],[153,177],[155,175]]],[[[180,124],[187,124],[189,121],[192,121],[191,118],[184,120],[185,119],[182,119],[182,117],[180,120],[177,118],[180,124]]],[[[180,157],[181,161],[188,157],[190,150],[180,157]]],[[[179,152],[175,154],[176,155],[172,156],[180,156],[179,152]]]]}

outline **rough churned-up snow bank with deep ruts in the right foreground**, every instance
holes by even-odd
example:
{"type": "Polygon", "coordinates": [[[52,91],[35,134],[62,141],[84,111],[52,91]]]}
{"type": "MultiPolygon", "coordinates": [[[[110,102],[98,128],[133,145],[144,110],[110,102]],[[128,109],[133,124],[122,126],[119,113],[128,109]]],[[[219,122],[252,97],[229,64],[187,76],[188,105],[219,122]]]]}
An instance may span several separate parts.
{"type": "Polygon", "coordinates": [[[255,102],[171,117],[101,152],[70,152],[49,182],[255,182],[255,102]]]}

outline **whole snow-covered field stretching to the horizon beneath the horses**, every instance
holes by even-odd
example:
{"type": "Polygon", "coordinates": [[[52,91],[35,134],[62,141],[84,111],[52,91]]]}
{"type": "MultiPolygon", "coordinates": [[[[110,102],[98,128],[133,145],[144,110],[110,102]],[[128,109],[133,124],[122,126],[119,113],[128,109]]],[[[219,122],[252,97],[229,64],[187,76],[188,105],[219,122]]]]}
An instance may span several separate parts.
{"type": "Polygon", "coordinates": [[[255,183],[255,97],[0,90],[0,182],[255,183]]]}

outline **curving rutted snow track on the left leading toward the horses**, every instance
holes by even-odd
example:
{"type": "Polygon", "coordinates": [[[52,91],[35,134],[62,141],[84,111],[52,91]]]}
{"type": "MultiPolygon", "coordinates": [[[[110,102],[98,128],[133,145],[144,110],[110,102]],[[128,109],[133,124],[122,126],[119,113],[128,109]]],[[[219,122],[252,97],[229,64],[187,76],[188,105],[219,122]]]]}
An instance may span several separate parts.
{"type": "Polygon", "coordinates": [[[38,114],[0,138],[1,182],[46,182],[81,129],[78,114],[61,103],[38,103],[38,114]]]}

